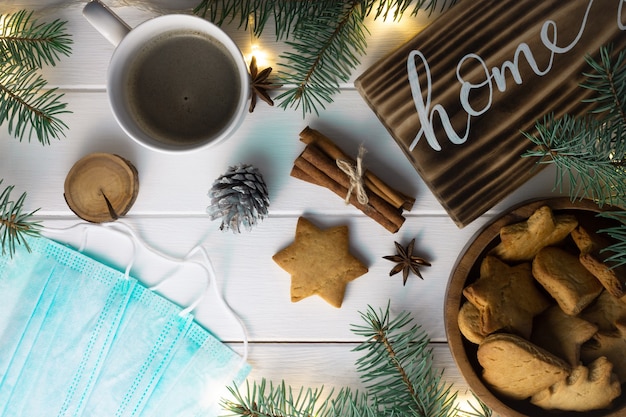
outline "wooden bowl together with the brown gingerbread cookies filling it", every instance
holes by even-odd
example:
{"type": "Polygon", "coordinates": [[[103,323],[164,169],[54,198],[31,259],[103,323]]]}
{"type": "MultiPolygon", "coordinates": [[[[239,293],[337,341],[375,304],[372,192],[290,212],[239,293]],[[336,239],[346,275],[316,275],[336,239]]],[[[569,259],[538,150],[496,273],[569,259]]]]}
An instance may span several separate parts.
{"type": "Polygon", "coordinates": [[[579,230],[595,234],[615,226],[612,220],[597,217],[600,211],[587,200],[524,203],[486,225],[458,258],[445,301],[449,347],[470,389],[495,413],[511,417],[548,417],[555,411],[567,416],[626,415],[625,381],[620,375],[622,366],[626,367],[622,364],[626,360],[620,360],[626,358],[626,327],[624,334],[619,333],[626,326],[626,298],[612,295],[581,262],[581,254],[598,256],[601,248],[584,249],[572,237],[579,230]],[[537,224],[550,232],[538,230],[537,224]],[[507,244],[503,244],[502,232],[507,244]],[[512,239],[515,233],[520,236],[512,239]],[[507,302],[493,297],[488,308],[481,306],[473,288],[482,285],[485,262],[504,265],[500,271],[505,276],[491,278],[490,287],[496,287],[493,282],[506,282],[507,275],[511,281],[510,272],[516,268],[530,267],[532,290],[522,296],[511,290],[519,282],[509,283],[502,287],[507,290],[498,290],[507,302]],[[513,325],[523,310],[520,305],[533,304],[543,308],[526,310],[527,324],[513,325]],[[505,325],[483,326],[488,310],[505,325]],[[615,349],[619,341],[623,345],[615,349]]]}

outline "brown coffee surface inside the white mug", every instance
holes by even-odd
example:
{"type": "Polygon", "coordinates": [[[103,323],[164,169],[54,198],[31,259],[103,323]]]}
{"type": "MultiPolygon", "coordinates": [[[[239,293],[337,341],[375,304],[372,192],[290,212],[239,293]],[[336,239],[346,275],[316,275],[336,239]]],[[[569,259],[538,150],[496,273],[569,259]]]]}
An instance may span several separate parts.
{"type": "Polygon", "coordinates": [[[153,139],[187,146],[224,129],[237,111],[237,64],[210,36],[165,32],[144,45],[127,73],[125,102],[153,139]]]}

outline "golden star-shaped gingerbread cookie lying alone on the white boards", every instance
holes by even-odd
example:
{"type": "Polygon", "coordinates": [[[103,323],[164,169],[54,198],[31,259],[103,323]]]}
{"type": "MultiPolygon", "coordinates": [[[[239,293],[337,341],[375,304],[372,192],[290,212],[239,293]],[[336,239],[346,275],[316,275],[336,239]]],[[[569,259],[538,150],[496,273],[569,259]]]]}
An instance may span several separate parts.
{"type": "Polygon", "coordinates": [[[348,226],[317,228],[300,217],[294,242],[272,259],[291,274],[291,301],[317,294],[341,307],[348,282],[367,272],[349,251],[348,226]]]}

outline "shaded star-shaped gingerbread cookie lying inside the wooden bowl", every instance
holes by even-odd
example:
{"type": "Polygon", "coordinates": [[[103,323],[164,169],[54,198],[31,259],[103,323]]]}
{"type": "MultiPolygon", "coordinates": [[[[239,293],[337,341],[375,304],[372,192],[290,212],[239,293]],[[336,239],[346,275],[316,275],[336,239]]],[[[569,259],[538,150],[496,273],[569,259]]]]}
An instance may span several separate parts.
{"type": "Polygon", "coordinates": [[[505,329],[528,338],[533,317],[550,306],[528,262],[509,266],[494,256],[483,259],[480,278],[465,287],[463,295],[478,308],[484,335],[505,329]]]}

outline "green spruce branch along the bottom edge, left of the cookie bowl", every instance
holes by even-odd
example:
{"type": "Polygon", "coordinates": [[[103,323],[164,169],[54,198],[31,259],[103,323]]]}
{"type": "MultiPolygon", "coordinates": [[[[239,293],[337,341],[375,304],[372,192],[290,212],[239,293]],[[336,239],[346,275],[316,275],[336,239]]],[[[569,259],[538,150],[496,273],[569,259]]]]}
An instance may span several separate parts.
{"type": "Polygon", "coordinates": [[[363,352],[357,370],[367,391],[348,388],[336,395],[321,389],[293,390],[283,381],[273,385],[265,379],[246,383],[246,392],[229,390],[232,399],[222,406],[231,416],[255,417],[449,417],[457,414],[456,393],[441,382],[432,367],[430,340],[407,312],[390,318],[389,305],[376,312],[361,313],[365,324],[353,326],[363,336],[355,351],[363,352]]]}

